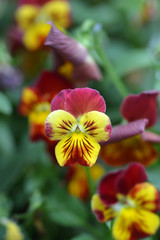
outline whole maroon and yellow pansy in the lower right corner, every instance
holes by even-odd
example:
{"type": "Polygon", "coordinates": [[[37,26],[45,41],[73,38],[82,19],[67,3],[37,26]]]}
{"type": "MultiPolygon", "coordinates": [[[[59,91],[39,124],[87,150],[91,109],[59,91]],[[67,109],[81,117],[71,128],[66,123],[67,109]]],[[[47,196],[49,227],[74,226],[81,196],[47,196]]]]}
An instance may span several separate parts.
{"type": "Polygon", "coordinates": [[[131,163],[127,169],[110,172],[92,197],[92,210],[100,222],[115,218],[115,240],[137,240],[155,234],[160,225],[155,214],[160,207],[158,190],[149,182],[144,167],[131,163]]]}

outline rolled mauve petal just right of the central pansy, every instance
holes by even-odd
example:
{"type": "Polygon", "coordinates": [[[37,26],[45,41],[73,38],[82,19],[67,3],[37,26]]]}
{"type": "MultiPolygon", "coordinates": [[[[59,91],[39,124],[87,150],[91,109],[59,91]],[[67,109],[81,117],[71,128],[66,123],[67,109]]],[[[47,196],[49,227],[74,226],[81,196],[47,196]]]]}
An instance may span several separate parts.
{"type": "Polygon", "coordinates": [[[125,125],[115,126],[112,128],[111,138],[105,144],[118,142],[123,139],[141,134],[144,132],[147,123],[148,123],[147,119],[140,119],[133,122],[129,122],[125,125]]]}

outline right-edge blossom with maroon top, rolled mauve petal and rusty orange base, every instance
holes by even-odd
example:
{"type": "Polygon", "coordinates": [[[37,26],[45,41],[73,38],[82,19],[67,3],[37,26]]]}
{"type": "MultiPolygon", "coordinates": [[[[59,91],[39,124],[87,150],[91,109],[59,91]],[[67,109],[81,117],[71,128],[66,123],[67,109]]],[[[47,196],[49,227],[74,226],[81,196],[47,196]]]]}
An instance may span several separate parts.
{"type": "Polygon", "coordinates": [[[159,92],[150,90],[127,96],[121,105],[121,114],[128,121],[112,129],[111,138],[101,148],[101,158],[112,166],[137,161],[147,166],[154,162],[158,153],[153,143],[160,142],[160,136],[145,130],[155,125],[157,97],[159,92]]]}

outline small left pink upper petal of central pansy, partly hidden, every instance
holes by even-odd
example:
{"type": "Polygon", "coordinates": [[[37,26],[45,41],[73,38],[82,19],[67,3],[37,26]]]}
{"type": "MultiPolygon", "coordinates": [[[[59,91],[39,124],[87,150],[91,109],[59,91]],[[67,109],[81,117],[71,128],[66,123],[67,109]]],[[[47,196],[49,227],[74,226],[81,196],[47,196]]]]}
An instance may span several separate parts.
{"type": "Polygon", "coordinates": [[[51,111],[55,110],[65,110],[65,101],[68,94],[72,91],[72,89],[62,90],[51,102],[51,111]]]}

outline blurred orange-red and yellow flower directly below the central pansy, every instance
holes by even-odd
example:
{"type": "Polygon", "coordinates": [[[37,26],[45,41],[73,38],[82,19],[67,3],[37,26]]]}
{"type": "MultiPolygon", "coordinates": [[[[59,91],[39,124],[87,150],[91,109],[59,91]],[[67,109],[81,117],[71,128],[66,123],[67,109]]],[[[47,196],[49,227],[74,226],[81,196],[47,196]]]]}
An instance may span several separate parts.
{"type": "MultiPolygon", "coordinates": [[[[96,163],[90,170],[91,179],[96,183],[105,173],[104,168],[96,163]]],[[[89,197],[89,185],[86,171],[83,166],[74,165],[69,167],[67,174],[67,189],[74,196],[86,201],[89,197]]]]}

